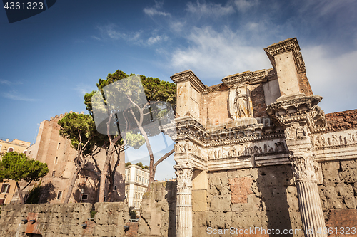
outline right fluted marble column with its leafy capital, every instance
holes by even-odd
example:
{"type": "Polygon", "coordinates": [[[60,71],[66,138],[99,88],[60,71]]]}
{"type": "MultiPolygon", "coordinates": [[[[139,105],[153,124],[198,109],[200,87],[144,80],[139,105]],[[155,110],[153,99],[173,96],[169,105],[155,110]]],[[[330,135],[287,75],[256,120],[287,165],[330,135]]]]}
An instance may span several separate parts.
{"type": "Polygon", "coordinates": [[[312,152],[294,152],[290,157],[305,236],[325,237],[328,234],[318,195],[316,165],[313,159],[312,152]]]}

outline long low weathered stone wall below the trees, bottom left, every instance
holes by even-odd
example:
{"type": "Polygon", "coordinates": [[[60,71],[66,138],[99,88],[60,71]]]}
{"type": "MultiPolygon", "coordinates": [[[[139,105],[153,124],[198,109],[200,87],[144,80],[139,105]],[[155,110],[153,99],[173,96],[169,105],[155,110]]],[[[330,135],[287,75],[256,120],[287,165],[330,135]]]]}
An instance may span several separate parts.
{"type": "Polygon", "coordinates": [[[1,206],[0,236],[125,236],[129,208],[124,203],[9,204],[1,206]],[[23,221],[26,220],[26,221],[23,221]],[[33,221],[35,220],[35,221],[33,221]],[[86,224],[86,226],[83,226],[86,224]]]}

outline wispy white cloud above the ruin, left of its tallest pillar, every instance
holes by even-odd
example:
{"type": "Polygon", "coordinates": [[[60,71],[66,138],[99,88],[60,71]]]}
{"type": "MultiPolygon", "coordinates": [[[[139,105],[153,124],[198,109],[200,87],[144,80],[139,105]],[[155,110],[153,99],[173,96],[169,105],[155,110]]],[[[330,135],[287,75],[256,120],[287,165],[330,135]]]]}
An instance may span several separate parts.
{"type": "Polygon", "coordinates": [[[246,70],[271,68],[263,47],[248,46],[238,32],[227,27],[221,32],[211,27],[193,28],[188,41],[191,46],[172,53],[174,70],[191,69],[203,77],[223,78],[246,70]]]}

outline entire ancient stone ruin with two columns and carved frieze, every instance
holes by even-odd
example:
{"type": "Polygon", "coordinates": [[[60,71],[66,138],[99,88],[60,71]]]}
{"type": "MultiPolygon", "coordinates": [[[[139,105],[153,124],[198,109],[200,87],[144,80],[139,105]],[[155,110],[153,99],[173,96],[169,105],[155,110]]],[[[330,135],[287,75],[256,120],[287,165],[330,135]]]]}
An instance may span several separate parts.
{"type": "Polygon", "coordinates": [[[328,227],[336,236],[340,227],[353,232],[352,223],[338,222],[336,215],[356,222],[356,110],[324,114],[296,38],[264,50],[273,68],[229,75],[218,85],[203,85],[191,70],[171,76],[177,116],[162,128],[176,141],[176,209],[148,208],[154,201],[171,204],[171,189],[159,200],[144,196],[143,211],[151,214],[143,214],[139,234],[234,230],[227,236],[238,236],[256,228],[265,230],[256,236],[328,236],[328,227]],[[168,212],[171,223],[174,218],[174,231],[167,223],[151,226],[160,212],[168,212]]]}

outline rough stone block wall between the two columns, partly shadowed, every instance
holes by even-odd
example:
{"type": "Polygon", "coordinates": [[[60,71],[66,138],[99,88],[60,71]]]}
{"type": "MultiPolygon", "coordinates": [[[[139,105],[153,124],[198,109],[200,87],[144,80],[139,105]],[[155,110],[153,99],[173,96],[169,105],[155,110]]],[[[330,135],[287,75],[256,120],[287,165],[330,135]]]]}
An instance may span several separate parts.
{"type": "Polygon", "coordinates": [[[208,185],[206,218],[194,213],[193,236],[208,227],[302,230],[290,165],[209,172],[208,185]]]}

